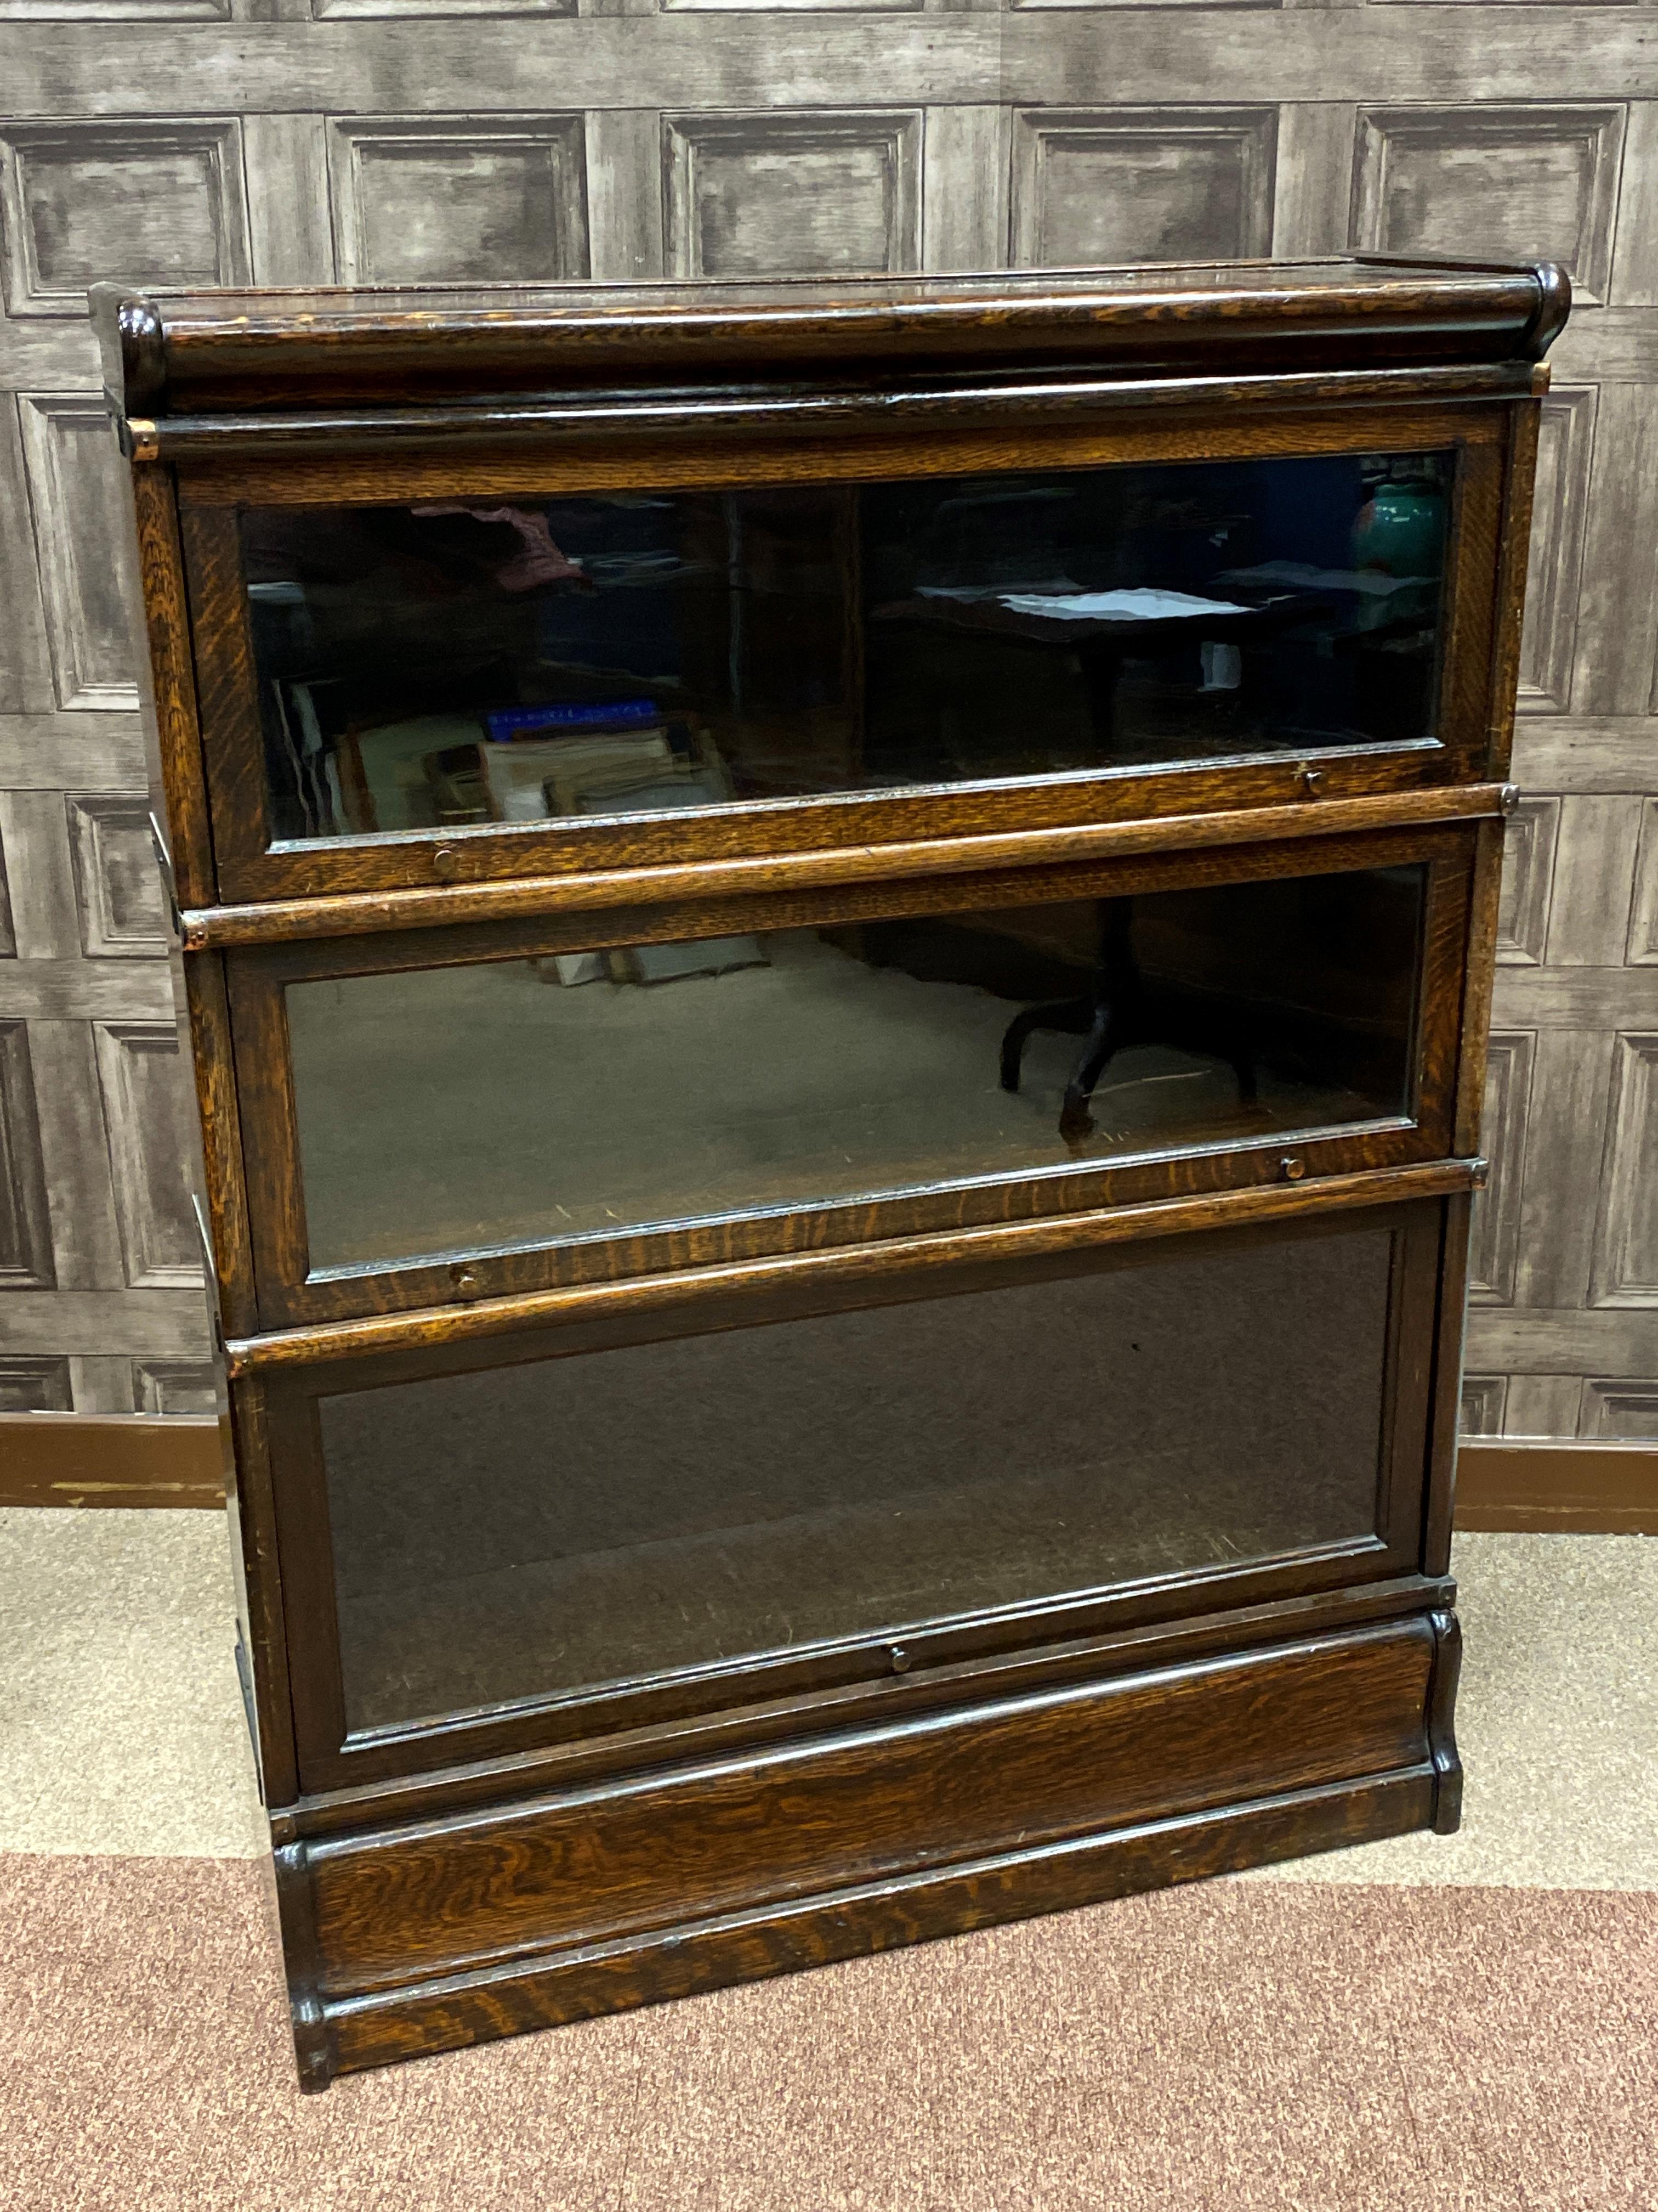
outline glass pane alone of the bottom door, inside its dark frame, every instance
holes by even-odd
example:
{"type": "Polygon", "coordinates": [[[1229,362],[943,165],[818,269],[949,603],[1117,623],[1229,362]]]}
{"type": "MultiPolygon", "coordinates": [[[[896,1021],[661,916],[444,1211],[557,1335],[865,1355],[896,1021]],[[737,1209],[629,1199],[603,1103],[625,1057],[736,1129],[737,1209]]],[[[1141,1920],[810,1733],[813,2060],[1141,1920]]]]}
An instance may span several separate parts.
{"type": "Polygon", "coordinates": [[[323,1398],[349,1725],[1368,1535],[1391,1243],[323,1398]]]}

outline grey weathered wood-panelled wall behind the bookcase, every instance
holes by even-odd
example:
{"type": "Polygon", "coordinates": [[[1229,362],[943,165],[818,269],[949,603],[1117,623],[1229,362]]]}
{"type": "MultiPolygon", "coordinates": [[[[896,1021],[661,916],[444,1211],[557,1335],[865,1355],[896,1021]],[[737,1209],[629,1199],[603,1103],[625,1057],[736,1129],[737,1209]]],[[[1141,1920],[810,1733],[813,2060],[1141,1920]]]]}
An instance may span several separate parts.
{"type": "Polygon", "coordinates": [[[0,0],[0,1407],[208,1402],[93,276],[1554,254],[1468,1427],[1658,1436],[1651,7],[0,0]]]}

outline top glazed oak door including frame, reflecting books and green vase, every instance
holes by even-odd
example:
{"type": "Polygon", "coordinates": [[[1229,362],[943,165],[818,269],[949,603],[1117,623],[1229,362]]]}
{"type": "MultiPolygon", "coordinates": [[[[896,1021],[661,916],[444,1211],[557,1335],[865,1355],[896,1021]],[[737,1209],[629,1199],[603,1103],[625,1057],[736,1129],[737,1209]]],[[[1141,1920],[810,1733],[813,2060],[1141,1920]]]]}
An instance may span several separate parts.
{"type": "Polygon", "coordinates": [[[1470,774],[1497,427],[1373,429],[1342,449],[1357,431],[1322,418],[1256,458],[186,509],[223,889],[962,834],[986,792],[999,827],[1258,805],[1309,759],[1326,796],[1470,774]],[[1180,796],[1194,776],[1214,796],[1180,796]]]}

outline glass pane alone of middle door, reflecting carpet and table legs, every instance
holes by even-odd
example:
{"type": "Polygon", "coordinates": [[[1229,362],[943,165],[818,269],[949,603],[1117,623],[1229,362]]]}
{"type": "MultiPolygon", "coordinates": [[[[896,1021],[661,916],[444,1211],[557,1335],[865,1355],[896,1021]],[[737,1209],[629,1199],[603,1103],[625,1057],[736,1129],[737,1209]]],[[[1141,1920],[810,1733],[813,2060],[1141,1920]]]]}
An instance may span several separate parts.
{"type": "Polygon", "coordinates": [[[287,987],[312,1267],[1410,1110],[1424,869],[287,987]]]}

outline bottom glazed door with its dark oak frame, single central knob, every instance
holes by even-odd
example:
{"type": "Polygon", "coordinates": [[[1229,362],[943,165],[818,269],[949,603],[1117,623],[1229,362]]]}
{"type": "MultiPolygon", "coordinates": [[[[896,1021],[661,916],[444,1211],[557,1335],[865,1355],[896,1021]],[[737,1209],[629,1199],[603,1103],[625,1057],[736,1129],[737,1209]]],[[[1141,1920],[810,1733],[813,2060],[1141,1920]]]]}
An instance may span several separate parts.
{"type": "Polygon", "coordinates": [[[1417,1201],[283,1376],[312,1756],[1399,1573],[1437,1239],[1417,1201]]]}

